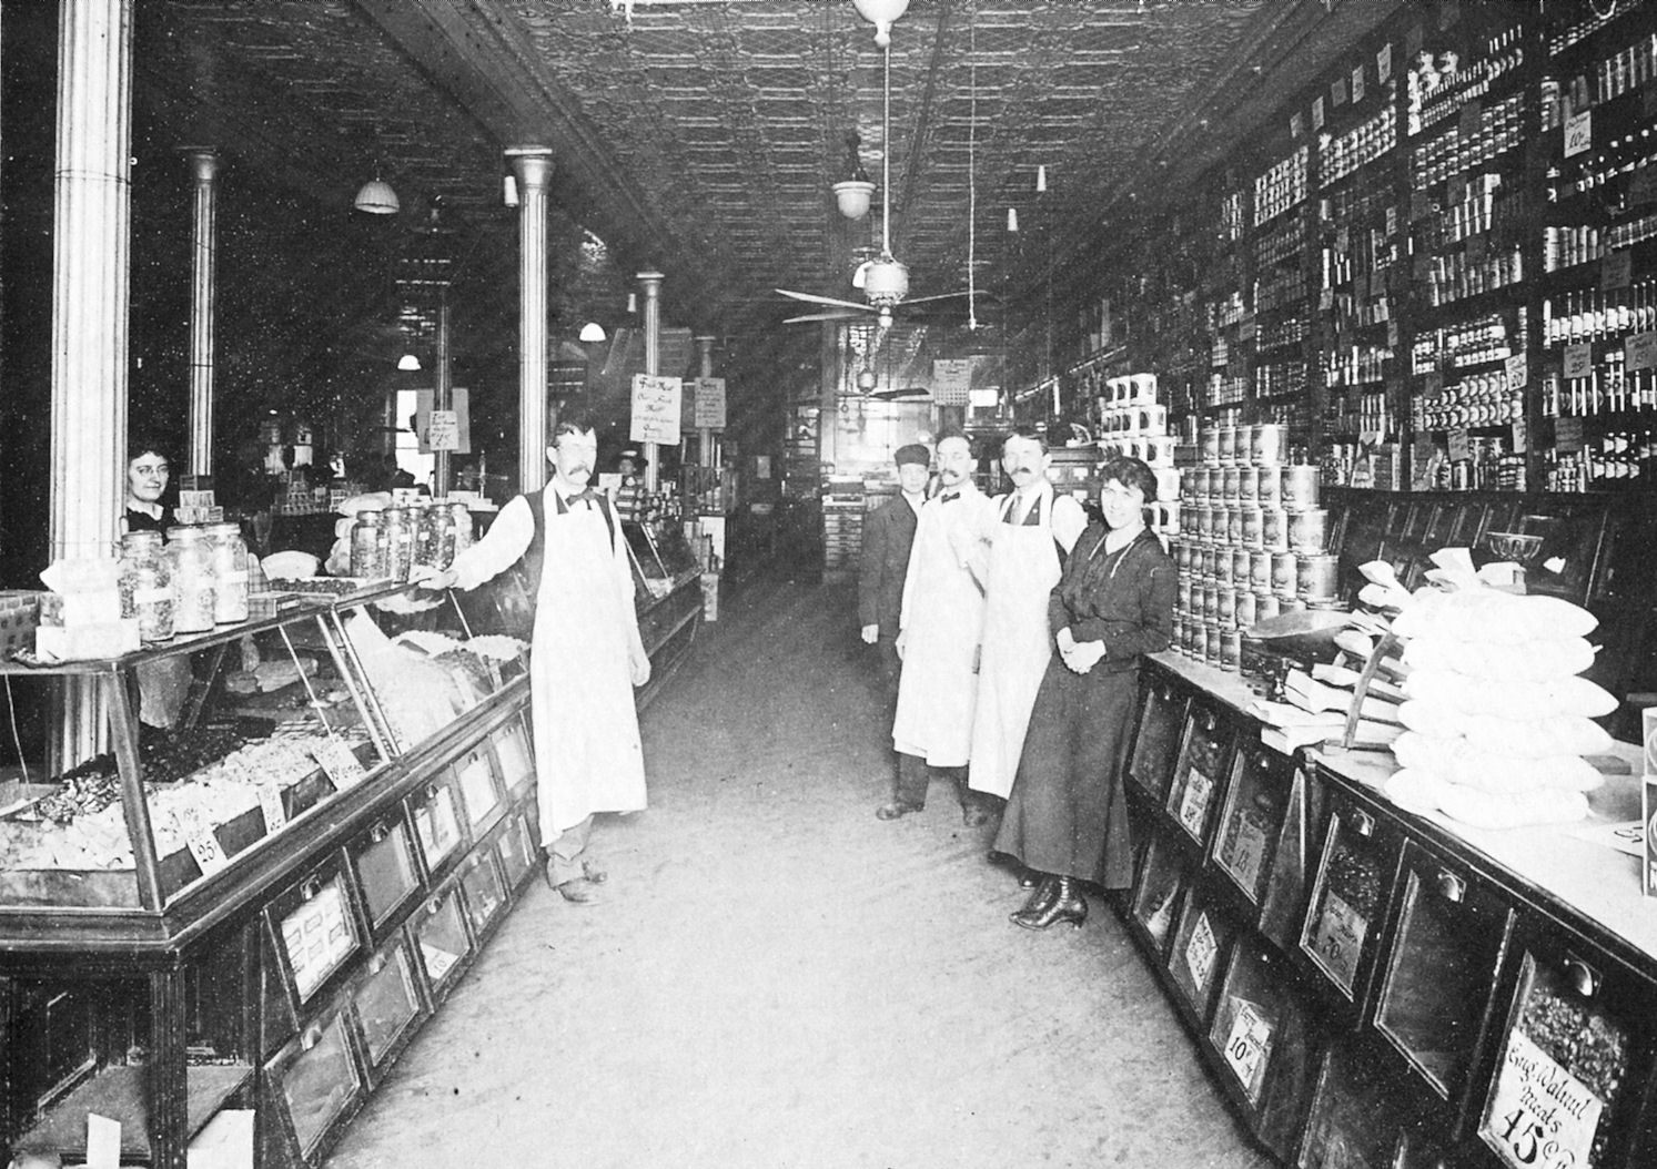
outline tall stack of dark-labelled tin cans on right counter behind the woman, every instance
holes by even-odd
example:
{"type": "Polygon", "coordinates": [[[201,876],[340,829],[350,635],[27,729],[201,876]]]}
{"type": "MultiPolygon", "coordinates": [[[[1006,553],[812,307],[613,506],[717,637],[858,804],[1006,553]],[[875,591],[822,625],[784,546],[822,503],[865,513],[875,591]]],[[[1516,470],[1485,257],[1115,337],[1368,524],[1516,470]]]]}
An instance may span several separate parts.
{"type": "Polygon", "coordinates": [[[1284,447],[1283,427],[1266,422],[1205,427],[1183,452],[1186,507],[1171,553],[1175,647],[1186,657],[1234,671],[1244,629],[1336,601],[1317,467],[1284,462],[1284,447]]]}

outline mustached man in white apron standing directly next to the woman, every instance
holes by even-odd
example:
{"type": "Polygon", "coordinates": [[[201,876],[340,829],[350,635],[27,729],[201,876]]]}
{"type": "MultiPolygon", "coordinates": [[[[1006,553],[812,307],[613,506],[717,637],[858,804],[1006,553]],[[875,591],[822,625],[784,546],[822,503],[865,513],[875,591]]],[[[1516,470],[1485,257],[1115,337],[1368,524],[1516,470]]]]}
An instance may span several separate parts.
{"type": "Polygon", "coordinates": [[[1052,657],[1047,594],[1059,583],[1059,556],[1070,553],[1087,527],[1082,505],[1047,482],[1047,440],[1037,431],[1017,431],[1001,445],[1012,492],[994,502],[968,783],[1002,800],[1012,791],[1036,690],[1052,657]]]}

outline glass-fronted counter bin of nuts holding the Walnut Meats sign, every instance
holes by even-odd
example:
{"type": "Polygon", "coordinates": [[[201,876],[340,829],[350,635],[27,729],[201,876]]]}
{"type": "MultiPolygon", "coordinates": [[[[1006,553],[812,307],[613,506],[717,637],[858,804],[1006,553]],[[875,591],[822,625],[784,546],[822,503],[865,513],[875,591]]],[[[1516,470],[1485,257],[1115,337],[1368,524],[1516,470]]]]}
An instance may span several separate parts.
{"type": "Polygon", "coordinates": [[[1604,955],[1528,944],[1480,1139],[1511,1169],[1622,1164],[1652,1073],[1654,1018],[1657,995],[1604,955]]]}

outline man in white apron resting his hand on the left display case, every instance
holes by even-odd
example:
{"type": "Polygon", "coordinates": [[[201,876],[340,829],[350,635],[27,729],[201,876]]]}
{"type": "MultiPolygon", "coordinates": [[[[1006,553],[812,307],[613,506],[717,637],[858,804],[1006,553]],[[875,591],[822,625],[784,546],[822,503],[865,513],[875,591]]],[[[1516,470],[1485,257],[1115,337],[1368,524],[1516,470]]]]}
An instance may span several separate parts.
{"type": "Polygon", "coordinates": [[[592,426],[585,419],[558,422],[547,460],[553,474],[540,498],[514,498],[482,540],[428,583],[477,588],[540,553],[540,581],[530,581],[530,722],[540,839],[547,884],[565,901],[590,904],[605,879],[587,859],[593,813],[645,806],[645,752],[633,687],[650,681],[650,656],[638,634],[633,571],[620,523],[610,500],[587,488],[598,460],[592,426]]]}

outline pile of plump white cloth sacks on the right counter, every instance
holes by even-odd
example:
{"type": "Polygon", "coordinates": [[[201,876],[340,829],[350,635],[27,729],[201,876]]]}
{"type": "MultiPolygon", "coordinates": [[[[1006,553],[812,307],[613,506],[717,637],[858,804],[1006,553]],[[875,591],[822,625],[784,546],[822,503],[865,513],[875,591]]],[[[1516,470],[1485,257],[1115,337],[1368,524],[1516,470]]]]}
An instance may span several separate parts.
{"type": "MultiPolygon", "coordinates": [[[[1470,570],[1470,566],[1468,566],[1470,570]]],[[[1611,747],[1592,719],[1617,700],[1579,674],[1597,619],[1551,596],[1514,596],[1471,573],[1457,591],[1423,588],[1394,621],[1407,639],[1407,730],[1394,803],[1476,828],[1571,823],[1602,782],[1584,757],[1611,747]]]]}

